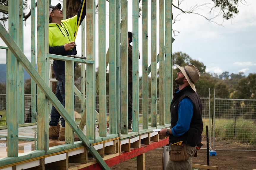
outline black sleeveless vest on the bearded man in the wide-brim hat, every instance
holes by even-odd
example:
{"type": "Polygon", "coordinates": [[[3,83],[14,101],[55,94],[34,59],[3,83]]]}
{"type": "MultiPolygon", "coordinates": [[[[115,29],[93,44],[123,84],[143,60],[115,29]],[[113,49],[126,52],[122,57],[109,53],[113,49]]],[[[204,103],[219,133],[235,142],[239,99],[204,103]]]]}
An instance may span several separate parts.
{"type": "Polygon", "coordinates": [[[193,103],[193,116],[190,122],[189,130],[183,135],[176,137],[170,135],[169,143],[176,143],[179,141],[185,142],[187,145],[196,146],[202,140],[202,132],[203,132],[203,120],[202,120],[202,103],[198,94],[190,87],[187,86],[180,90],[178,93],[178,88],[175,89],[175,93],[173,93],[173,100],[171,102],[170,111],[171,111],[171,128],[173,128],[178,121],[178,104],[180,101],[189,97],[193,103]]]}

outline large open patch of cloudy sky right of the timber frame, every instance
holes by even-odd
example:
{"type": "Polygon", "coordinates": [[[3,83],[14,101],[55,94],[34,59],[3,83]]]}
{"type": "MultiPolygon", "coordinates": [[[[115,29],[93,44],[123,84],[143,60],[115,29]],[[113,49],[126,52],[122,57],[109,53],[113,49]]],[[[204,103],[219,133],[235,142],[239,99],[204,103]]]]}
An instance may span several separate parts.
{"type": "MultiPolygon", "coordinates": [[[[201,0],[203,1],[203,0],[201,0]]],[[[206,71],[216,74],[229,72],[256,73],[256,1],[240,4],[239,14],[219,26],[202,17],[183,15],[173,29],[173,52],[182,51],[206,65],[206,71]]],[[[216,20],[222,23],[222,19],[216,20]]]]}

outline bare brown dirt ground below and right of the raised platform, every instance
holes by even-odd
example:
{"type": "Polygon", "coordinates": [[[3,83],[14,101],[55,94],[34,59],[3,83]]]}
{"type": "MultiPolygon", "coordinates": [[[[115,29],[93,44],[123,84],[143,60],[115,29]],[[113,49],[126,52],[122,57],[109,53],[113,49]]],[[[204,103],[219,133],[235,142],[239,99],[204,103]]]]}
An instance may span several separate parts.
{"type": "MultiPolygon", "coordinates": [[[[218,166],[219,170],[252,170],[256,169],[255,151],[216,151],[217,156],[209,156],[209,165],[218,166]]],[[[163,150],[151,150],[145,153],[146,170],[162,170],[163,150]]],[[[199,150],[197,157],[193,157],[194,164],[207,165],[206,150],[199,150]]],[[[136,170],[136,159],[129,159],[111,166],[115,170],[136,170]]],[[[203,169],[200,169],[203,170],[203,169]]]]}

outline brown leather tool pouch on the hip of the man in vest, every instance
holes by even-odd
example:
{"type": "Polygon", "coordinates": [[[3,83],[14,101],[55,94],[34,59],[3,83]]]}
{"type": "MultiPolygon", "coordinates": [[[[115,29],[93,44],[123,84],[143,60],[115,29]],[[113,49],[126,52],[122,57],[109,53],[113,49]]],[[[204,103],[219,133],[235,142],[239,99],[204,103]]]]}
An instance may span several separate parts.
{"type": "Polygon", "coordinates": [[[169,152],[171,161],[185,161],[188,159],[186,144],[170,145],[169,152]]]}

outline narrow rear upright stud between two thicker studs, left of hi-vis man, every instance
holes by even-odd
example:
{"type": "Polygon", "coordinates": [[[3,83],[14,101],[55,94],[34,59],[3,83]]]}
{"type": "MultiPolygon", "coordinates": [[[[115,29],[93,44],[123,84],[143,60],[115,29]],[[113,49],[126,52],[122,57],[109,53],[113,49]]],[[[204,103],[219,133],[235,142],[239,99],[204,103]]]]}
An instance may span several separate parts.
{"type": "MultiPolygon", "coordinates": [[[[31,0],[31,64],[36,68],[36,2],[31,0]]],[[[31,79],[31,122],[36,122],[36,83],[31,79]]]]}

